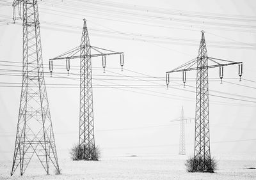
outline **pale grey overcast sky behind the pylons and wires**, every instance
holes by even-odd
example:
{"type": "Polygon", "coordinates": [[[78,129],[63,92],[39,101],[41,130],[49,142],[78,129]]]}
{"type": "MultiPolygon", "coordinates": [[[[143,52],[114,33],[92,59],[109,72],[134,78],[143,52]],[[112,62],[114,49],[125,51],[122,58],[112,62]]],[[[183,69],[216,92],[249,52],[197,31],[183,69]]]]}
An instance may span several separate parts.
{"type": "MultiPolygon", "coordinates": [[[[1,19],[12,18],[12,6],[8,5],[10,3],[12,3],[10,0],[0,1],[1,19]]],[[[100,68],[101,59],[92,59],[93,78],[95,78],[93,79],[95,142],[102,149],[104,157],[179,152],[179,122],[170,121],[180,117],[182,105],[186,117],[195,117],[195,93],[184,91],[184,89],[195,91],[195,88],[183,88],[182,79],[175,79],[179,80],[181,85],[177,86],[175,84],[177,82],[171,82],[170,89],[166,90],[163,86],[165,85],[164,77],[166,71],[197,56],[201,30],[205,31],[208,56],[243,61],[243,79],[256,81],[256,2],[253,0],[63,0],[63,2],[44,0],[38,2],[38,8],[47,86],[48,84],[77,84],[75,86],[77,88],[47,88],[57,153],[60,158],[68,158],[69,149],[78,142],[79,76],[75,74],[79,73],[76,67],[79,65],[79,60],[71,61],[70,73],[74,74],[71,74],[68,79],[54,78],[67,77],[67,71],[56,69],[58,66],[54,66],[54,72],[65,74],[55,73],[53,78],[49,78],[47,64],[50,58],[79,45],[84,18],[88,20],[91,45],[124,52],[124,71],[121,71],[118,56],[107,57],[106,73],[103,73],[103,69],[100,68]],[[153,13],[152,8],[161,13],[153,13]],[[181,14],[163,13],[164,10],[161,8],[181,14]],[[186,14],[200,15],[200,18],[188,17],[186,14]],[[216,14],[218,17],[221,15],[221,19],[202,17],[216,17],[216,14]],[[227,19],[223,20],[224,17],[227,19]],[[251,20],[248,20],[248,17],[251,20]],[[173,40],[173,38],[176,39],[173,40]],[[142,73],[159,77],[159,79],[148,78],[142,73]],[[106,75],[127,75],[133,78],[106,75]],[[157,81],[149,82],[147,79],[157,81]],[[116,84],[131,86],[161,84],[163,87],[116,89],[98,88],[99,84],[111,87],[116,84]]],[[[21,64],[4,66],[4,64],[13,65],[14,63],[2,61],[22,62],[22,26],[20,25],[22,21],[17,20],[15,25],[4,23],[5,21],[0,22],[0,74],[2,74],[0,82],[20,83],[21,76],[8,76],[3,73],[4,69],[22,70],[21,64]]],[[[65,62],[54,62],[54,65],[65,65],[65,62]]],[[[243,101],[209,97],[211,154],[213,156],[228,153],[255,154],[256,82],[246,80],[239,82],[238,66],[224,68],[223,84],[220,84],[218,73],[218,69],[209,70],[211,78],[209,93],[243,101]]],[[[181,78],[182,74],[171,74],[172,77],[181,78]]],[[[195,72],[188,73],[188,78],[192,78],[187,82],[189,86],[195,86],[195,77],[195,72]]],[[[19,102],[20,87],[0,87],[0,160],[12,160],[19,102]]],[[[194,126],[193,122],[186,124],[188,155],[193,154],[194,126]]]]}

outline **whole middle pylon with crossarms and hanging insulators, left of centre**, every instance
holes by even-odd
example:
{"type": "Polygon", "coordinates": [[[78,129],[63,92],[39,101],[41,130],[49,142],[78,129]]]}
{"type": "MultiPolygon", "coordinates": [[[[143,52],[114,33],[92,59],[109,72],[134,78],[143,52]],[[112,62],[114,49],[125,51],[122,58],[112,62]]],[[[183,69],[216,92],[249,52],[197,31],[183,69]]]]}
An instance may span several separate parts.
{"type": "Polygon", "coordinates": [[[120,65],[123,67],[124,52],[115,52],[90,45],[86,20],[84,19],[81,44],[49,61],[50,72],[52,73],[53,60],[65,59],[67,71],[69,71],[70,59],[80,59],[79,160],[97,160],[93,123],[92,57],[102,56],[102,66],[105,70],[106,56],[113,54],[120,54],[120,65]],[[92,53],[92,50],[96,54],[92,53]]]}

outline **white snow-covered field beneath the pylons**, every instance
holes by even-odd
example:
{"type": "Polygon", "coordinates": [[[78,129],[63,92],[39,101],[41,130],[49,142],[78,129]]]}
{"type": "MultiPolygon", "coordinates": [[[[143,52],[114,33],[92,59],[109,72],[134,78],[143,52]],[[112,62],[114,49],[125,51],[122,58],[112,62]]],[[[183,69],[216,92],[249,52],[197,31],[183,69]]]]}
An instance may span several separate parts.
{"type": "Polygon", "coordinates": [[[188,173],[184,162],[188,156],[127,156],[102,158],[100,161],[60,159],[61,174],[53,167],[47,176],[42,165],[31,161],[24,176],[19,169],[10,176],[12,161],[0,162],[0,179],[256,179],[256,156],[216,156],[218,170],[214,174],[188,173]]]}

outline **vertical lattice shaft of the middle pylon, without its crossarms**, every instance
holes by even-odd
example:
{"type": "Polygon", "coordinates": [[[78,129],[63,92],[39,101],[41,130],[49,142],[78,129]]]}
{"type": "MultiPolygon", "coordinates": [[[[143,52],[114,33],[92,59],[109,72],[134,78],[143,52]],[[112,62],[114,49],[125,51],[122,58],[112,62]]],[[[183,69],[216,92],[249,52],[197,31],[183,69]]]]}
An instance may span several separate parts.
{"type": "Polygon", "coordinates": [[[79,118],[79,156],[81,159],[94,160],[96,158],[94,124],[93,124],[93,96],[92,96],[92,56],[91,45],[84,20],[81,40],[80,59],[80,118],[79,118]]]}

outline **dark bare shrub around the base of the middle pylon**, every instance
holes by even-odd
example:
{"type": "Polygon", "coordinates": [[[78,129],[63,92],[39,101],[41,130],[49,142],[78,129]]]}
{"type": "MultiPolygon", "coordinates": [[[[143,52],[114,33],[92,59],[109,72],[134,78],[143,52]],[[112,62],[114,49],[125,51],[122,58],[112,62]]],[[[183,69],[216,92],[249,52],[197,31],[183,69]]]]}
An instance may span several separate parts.
{"type": "Polygon", "coordinates": [[[92,149],[92,156],[86,157],[86,156],[81,156],[80,154],[88,154],[88,148],[83,148],[79,147],[78,144],[74,144],[73,147],[70,150],[70,157],[73,161],[78,161],[78,160],[93,160],[97,161],[100,159],[101,151],[99,146],[96,146],[95,148],[91,147],[92,149]],[[82,153],[84,151],[84,153],[82,153]]]}

